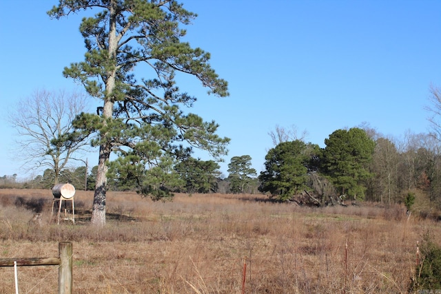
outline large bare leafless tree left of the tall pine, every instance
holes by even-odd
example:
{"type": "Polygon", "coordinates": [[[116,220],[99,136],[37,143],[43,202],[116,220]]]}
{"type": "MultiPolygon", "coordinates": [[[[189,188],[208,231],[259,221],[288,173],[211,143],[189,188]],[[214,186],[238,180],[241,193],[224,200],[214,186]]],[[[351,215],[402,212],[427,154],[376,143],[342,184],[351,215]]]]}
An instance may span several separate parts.
{"type": "Polygon", "coordinates": [[[71,138],[66,145],[58,142],[69,136],[72,120],[85,109],[85,95],[76,92],[39,90],[20,101],[8,120],[19,136],[16,144],[21,151],[16,158],[24,162],[23,168],[50,168],[54,171],[51,185],[58,183],[61,170],[78,160],[76,155],[88,145],[85,137],[71,138]]]}

